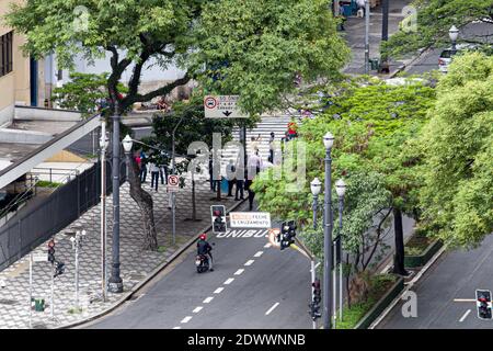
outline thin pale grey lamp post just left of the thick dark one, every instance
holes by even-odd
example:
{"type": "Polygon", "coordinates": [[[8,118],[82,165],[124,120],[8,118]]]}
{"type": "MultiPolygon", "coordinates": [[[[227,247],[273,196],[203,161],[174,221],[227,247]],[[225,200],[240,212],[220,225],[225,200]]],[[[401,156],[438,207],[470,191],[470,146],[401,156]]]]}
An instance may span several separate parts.
{"type": "Polygon", "coordinates": [[[101,122],[101,296],[106,302],[106,121],[101,122]]]}

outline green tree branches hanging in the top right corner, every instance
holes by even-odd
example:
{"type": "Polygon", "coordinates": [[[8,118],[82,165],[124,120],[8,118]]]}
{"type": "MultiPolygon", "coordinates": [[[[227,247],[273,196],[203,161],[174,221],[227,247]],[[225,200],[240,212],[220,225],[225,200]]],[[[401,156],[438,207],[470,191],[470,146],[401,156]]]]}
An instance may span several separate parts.
{"type": "MultiPolygon", "coordinates": [[[[417,9],[416,31],[401,29],[393,34],[383,50],[391,56],[415,52],[437,45],[449,45],[448,30],[456,25],[462,27],[473,21],[493,25],[493,5],[484,0],[415,0],[417,9]]],[[[485,43],[480,36],[468,42],[485,43]]]]}

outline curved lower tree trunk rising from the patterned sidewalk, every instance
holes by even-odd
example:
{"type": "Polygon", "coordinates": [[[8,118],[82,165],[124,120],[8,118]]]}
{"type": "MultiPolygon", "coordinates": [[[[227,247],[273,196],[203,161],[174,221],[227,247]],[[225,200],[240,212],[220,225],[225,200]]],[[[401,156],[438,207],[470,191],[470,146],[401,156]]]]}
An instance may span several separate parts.
{"type": "Polygon", "coordinates": [[[135,158],[127,159],[128,165],[128,183],[130,184],[130,196],[137,203],[142,215],[144,225],[144,250],[158,250],[158,234],[154,226],[154,212],[152,196],[146,192],[141,184],[139,168],[135,158]]]}

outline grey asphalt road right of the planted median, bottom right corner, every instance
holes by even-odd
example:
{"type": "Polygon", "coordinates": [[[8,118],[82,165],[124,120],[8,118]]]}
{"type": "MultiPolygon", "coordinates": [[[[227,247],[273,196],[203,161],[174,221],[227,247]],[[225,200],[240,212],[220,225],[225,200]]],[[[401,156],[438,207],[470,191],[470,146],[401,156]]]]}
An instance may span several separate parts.
{"type": "Polygon", "coordinates": [[[493,329],[478,318],[475,290],[493,291],[493,236],[471,251],[444,253],[411,288],[417,294],[417,318],[402,316],[399,302],[378,329],[493,329]],[[456,302],[456,299],[466,302],[456,302]]]}

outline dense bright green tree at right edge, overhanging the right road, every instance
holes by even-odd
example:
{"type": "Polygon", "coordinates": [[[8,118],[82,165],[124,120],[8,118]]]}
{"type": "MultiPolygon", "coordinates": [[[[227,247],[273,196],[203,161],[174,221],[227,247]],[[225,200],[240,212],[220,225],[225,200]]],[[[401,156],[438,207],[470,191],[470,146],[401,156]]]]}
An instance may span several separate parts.
{"type": "Polygon", "coordinates": [[[423,223],[450,247],[493,231],[493,57],[457,57],[424,129],[423,223]]]}

